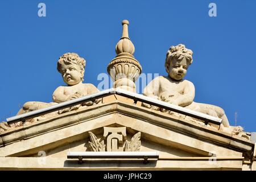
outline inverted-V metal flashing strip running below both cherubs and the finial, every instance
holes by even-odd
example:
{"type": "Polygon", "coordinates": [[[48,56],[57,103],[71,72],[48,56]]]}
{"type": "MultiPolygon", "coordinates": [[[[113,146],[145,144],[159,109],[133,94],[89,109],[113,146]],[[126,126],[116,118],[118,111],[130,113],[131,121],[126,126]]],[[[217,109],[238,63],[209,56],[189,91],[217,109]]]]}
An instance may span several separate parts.
{"type": "Polygon", "coordinates": [[[47,114],[47,113],[51,113],[52,111],[65,109],[67,107],[75,106],[77,104],[82,104],[82,103],[87,102],[87,101],[94,101],[98,98],[110,96],[112,94],[117,94],[119,96],[124,96],[124,97],[131,98],[131,99],[134,100],[135,103],[137,103],[137,101],[141,101],[141,102],[144,102],[144,103],[147,103],[147,104],[150,104],[150,105],[154,105],[154,106],[162,107],[162,108],[167,109],[167,110],[175,111],[175,112],[180,113],[180,114],[188,115],[188,116],[193,117],[193,118],[202,119],[205,123],[210,122],[210,123],[214,123],[216,125],[220,125],[221,121],[222,121],[221,118],[216,118],[216,117],[213,117],[213,116],[208,115],[208,114],[199,113],[197,111],[186,109],[186,108],[181,107],[181,106],[176,106],[176,105],[173,105],[173,104],[170,104],[170,103],[167,103],[167,102],[159,101],[159,100],[156,100],[154,98],[143,96],[142,94],[129,92],[129,91],[123,90],[123,89],[114,89],[114,88],[103,90],[103,91],[98,92],[98,93],[90,94],[89,96],[76,98],[76,99],[71,100],[71,101],[61,102],[60,104],[49,106],[49,107],[46,107],[46,108],[43,108],[43,109],[30,111],[28,113],[24,113],[24,114],[20,114],[20,115],[15,115],[14,117],[7,118],[6,121],[7,121],[8,125],[10,125],[12,123],[15,123],[15,122],[18,122],[18,121],[23,121],[24,122],[24,121],[26,121],[26,119],[34,118],[34,117],[37,117],[39,115],[43,115],[43,114],[47,114]]]}

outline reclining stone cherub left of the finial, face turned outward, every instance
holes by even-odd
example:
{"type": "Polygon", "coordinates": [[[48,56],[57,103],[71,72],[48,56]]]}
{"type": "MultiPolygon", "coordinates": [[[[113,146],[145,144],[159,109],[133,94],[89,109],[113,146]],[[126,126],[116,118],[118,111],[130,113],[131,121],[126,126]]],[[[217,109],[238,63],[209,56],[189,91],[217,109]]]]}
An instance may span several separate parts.
{"type": "MultiPolygon", "coordinates": [[[[92,84],[84,84],[84,68],[85,59],[77,55],[77,53],[65,53],[62,55],[57,62],[57,71],[61,73],[63,81],[67,86],[59,86],[52,94],[53,102],[26,102],[22,109],[18,111],[19,114],[27,113],[29,111],[42,109],[51,105],[58,104],[60,102],[73,100],[88,94],[93,94],[99,92],[99,90],[92,84]]],[[[93,104],[98,104],[101,100],[96,100],[94,102],[89,101],[80,105],[68,107],[59,111],[45,114],[41,117],[36,117],[33,119],[28,119],[28,121],[33,122],[35,120],[40,120],[51,115],[65,113],[67,111],[76,110],[80,106],[89,106],[93,104]]],[[[2,123],[2,130],[7,130],[9,126],[6,123],[2,123]]],[[[11,127],[20,126],[20,122],[14,123],[11,127]]],[[[1,127],[0,127],[1,128],[1,127]]]]}

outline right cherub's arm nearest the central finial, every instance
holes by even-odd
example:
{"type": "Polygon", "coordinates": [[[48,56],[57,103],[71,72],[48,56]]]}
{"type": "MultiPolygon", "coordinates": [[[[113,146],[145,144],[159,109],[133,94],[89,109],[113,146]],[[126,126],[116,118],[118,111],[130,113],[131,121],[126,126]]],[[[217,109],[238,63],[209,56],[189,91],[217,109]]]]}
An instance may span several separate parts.
{"type": "Polygon", "coordinates": [[[161,77],[156,77],[152,80],[143,90],[143,95],[147,97],[152,97],[158,99],[159,85],[161,77]]]}

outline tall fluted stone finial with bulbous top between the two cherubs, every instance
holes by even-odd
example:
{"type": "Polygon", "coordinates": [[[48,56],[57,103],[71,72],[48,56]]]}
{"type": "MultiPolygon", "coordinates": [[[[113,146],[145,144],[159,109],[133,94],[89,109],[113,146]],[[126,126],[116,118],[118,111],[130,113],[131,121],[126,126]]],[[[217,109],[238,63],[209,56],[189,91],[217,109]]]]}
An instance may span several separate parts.
{"type": "Polygon", "coordinates": [[[133,56],[135,47],[129,38],[128,20],[122,21],[122,37],[115,46],[117,56],[110,61],[108,73],[114,80],[113,87],[135,92],[135,81],[141,75],[142,67],[133,56]]]}

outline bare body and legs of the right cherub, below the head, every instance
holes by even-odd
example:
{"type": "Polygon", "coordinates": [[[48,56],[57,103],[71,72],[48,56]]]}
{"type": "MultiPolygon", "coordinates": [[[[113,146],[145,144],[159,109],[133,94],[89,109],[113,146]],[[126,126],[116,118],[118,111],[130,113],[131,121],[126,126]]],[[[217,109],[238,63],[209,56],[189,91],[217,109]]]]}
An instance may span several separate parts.
{"type": "Polygon", "coordinates": [[[188,80],[177,81],[167,76],[159,76],[146,86],[143,94],[170,104],[222,118],[224,126],[229,126],[223,109],[218,106],[193,101],[195,98],[195,86],[188,80]]]}

